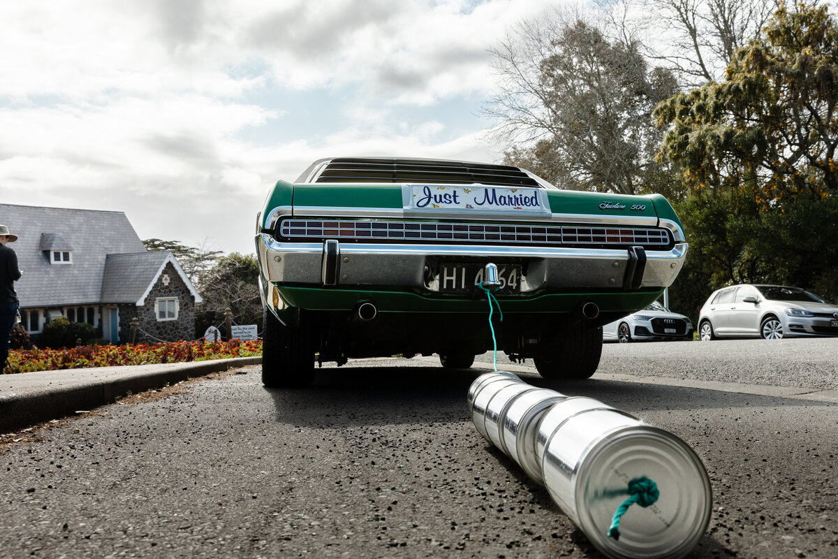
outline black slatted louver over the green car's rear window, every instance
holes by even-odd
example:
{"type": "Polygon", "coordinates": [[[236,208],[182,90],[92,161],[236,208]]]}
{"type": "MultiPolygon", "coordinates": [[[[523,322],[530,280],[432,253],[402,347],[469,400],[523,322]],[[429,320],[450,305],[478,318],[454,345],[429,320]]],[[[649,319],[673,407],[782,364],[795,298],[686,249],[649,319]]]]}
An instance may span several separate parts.
{"type": "Polygon", "coordinates": [[[517,167],[421,159],[332,159],[315,183],[491,184],[541,188],[517,167]]]}

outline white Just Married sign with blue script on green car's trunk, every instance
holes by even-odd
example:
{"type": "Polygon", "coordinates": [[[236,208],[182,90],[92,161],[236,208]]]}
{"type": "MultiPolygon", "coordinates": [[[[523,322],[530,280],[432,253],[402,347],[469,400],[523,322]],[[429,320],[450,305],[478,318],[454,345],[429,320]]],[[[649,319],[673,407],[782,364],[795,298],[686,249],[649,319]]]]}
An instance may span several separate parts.
{"type": "Polygon", "coordinates": [[[517,210],[549,213],[539,189],[504,189],[490,186],[437,186],[411,184],[410,202],[414,210],[517,210]]]}

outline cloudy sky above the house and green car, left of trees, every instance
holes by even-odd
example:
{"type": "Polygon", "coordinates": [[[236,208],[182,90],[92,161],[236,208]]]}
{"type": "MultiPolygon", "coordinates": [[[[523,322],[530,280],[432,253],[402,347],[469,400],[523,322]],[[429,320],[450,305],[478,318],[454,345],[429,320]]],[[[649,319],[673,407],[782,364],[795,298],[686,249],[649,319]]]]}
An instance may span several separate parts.
{"type": "Polygon", "coordinates": [[[0,201],[252,252],[269,185],[314,159],[497,160],[487,51],[560,1],[2,3],[0,201]]]}

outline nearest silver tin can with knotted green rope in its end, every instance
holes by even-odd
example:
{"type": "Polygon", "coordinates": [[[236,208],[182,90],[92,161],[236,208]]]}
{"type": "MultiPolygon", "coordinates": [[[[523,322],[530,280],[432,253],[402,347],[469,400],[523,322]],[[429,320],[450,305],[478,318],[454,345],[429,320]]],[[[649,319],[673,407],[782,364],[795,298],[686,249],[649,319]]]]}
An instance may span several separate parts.
{"type": "Polygon", "coordinates": [[[551,497],[606,556],[681,557],[706,531],[710,479],[696,453],[670,432],[614,409],[591,409],[562,421],[542,452],[551,497]],[[608,536],[615,511],[629,498],[629,482],[644,476],[659,498],[645,508],[629,506],[619,538],[608,536]]]}

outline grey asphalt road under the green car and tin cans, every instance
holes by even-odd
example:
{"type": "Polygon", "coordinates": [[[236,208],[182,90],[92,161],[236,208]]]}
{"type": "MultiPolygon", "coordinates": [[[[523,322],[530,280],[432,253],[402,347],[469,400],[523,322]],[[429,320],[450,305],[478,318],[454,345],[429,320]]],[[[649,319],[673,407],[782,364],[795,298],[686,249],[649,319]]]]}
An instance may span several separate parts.
{"type": "MultiPolygon", "coordinates": [[[[693,557],[834,557],[836,349],[609,344],[577,384],[499,368],[696,450],[714,507],[693,557]]],[[[18,432],[0,445],[0,557],[599,557],[475,431],[465,396],[491,360],[355,361],[303,391],[251,366],[18,432]]]]}

